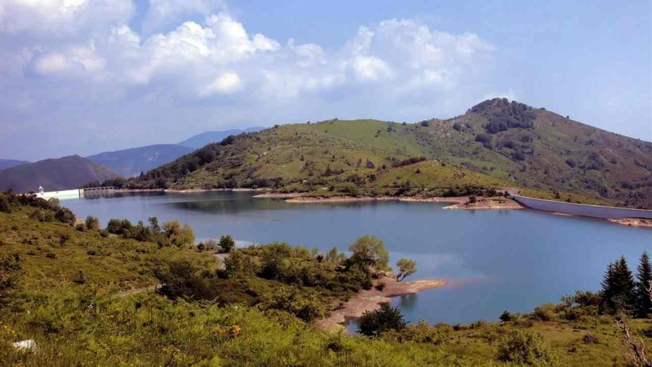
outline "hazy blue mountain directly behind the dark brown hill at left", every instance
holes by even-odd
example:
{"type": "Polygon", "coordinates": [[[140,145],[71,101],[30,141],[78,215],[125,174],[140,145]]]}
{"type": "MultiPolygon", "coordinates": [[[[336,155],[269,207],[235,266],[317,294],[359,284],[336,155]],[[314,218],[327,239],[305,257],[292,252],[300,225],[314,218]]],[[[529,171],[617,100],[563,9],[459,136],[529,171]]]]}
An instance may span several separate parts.
{"type": "Polygon", "coordinates": [[[156,144],[122,151],[99,153],[87,158],[111,168],[125,177],[130,177],[172,162],[192,151],[193,149],[181,145],[156,144]]]}

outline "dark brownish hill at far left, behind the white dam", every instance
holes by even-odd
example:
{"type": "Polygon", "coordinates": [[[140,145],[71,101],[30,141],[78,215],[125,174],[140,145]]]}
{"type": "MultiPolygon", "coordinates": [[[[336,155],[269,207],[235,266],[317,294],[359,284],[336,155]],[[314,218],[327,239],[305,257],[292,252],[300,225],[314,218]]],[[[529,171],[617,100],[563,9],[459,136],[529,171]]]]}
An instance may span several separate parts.
{"type": "Polygon", "coordinates": [[[103,182],[119,175],[78,155],[21,164],[0,172],[0,191],[46,191],[74,189],[91,181],[103,182]]]}

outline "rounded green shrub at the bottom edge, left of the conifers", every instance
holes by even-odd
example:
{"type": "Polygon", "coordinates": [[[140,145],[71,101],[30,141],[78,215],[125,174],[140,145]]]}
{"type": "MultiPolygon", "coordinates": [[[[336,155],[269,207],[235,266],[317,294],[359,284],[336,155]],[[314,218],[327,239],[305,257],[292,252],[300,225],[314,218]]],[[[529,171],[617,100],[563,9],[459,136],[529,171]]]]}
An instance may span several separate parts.
{"type": "Polygon", "coordinates": [[[508,330],[498,345],[497,359],[532,366],[554,366],[557,356],[542,341],[541,336],[526,330],[508,330]]]}

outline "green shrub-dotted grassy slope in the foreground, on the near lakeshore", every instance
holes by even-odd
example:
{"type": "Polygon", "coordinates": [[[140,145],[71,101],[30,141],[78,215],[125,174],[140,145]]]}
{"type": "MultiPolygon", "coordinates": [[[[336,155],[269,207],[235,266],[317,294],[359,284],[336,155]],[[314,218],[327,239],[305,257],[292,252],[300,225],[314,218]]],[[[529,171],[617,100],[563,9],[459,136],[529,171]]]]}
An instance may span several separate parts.
{"type": "MultiPolygon", "coordinates": [[[[231,253],[234,260],[220,271],[209,252],[73,230],[33,215],[38,210],[48,209],[0,213],[3,365],[629,365],[612,317],[597,312],[595,295],[503,315],[501,323],[415,323],[374,339],[331,334],[314,319],[369,279],[347,270],[336,253],[252,246],[231,253]],[[156,282],[168,285],[167,297],[117,293],[156,282]],[[11,345],[27,339],[37,343],[35,353],[11,345]]],[[[629,327],[652,343],[650,319],[632,319],[629,327]]]]}

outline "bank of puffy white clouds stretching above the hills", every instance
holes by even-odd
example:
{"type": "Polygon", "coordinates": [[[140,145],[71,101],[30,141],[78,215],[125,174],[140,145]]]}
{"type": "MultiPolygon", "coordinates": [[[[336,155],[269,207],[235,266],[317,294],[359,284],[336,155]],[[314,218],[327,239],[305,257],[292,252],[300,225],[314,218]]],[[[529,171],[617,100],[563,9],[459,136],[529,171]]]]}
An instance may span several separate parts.
{"type": "Polygon", "coordinates": [[[102,149],[119,149],[118,141],[170,142],[184,131],[220,125],[333,115],[422,119],[466,110],[495,50],[477,35],[416,20],[360,27],[338,48],[280,42],[249,33],[228,12],[215,11],[224,9],[221,2],[207,0],[153,0],[148,19],[176,24],[137,32],[128,26],[130,1],[115,2],[116,14],[104,1],[3,3],[0,47],[8,52],[0,55],[0,82],[8,88],[1,124],[20,121],[29,129],[55,122],[92,136],[93,126],[111,123],[113,134],[128,131],[132,140],[95,139],[106,140],[102,149]],[[179,20],[190,13],[202,20],[179,20]],[[179,119],[186,123],[175,124],[179,119]]]}

